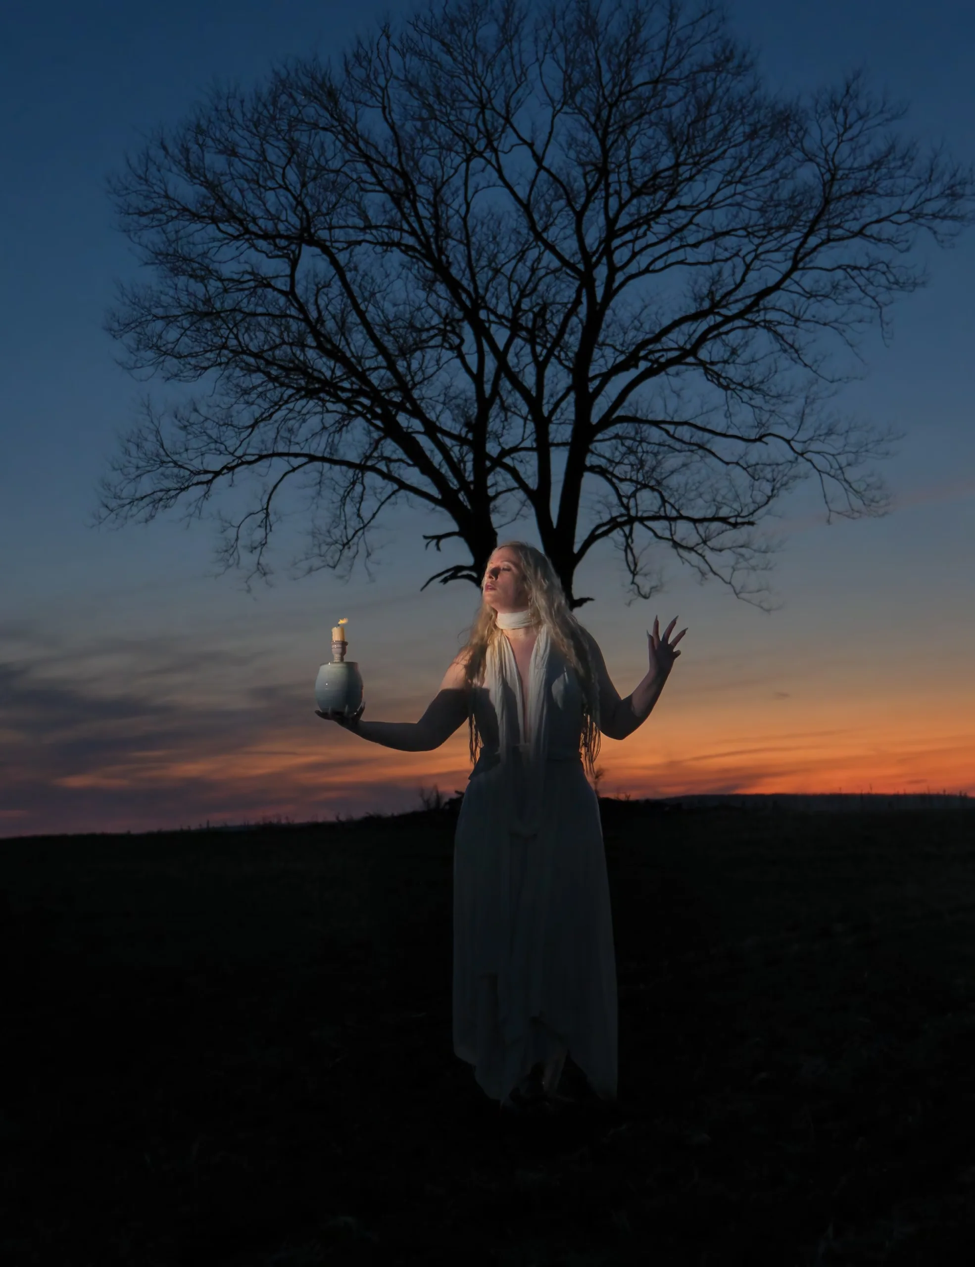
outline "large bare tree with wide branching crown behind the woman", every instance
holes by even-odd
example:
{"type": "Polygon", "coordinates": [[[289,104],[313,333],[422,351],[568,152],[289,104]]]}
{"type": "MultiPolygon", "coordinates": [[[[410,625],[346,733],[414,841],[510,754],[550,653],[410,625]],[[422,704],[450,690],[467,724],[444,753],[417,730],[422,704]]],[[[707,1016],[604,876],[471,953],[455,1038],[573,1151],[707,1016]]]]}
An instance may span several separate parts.
{"type": "Polygon", "coordinates": [[[658,0],[448,0],[341,68],[213,89],[109,181],[152,277],[108,318],[124,364],[208,392],[144,404],[95,522],[199,516],[251,473],[219,516],[248,582],[289,483],[305,574],[368,568],[405,499],[467,551],[425,584],[477,584],[529,514],[574,607],[603,538],[634,595],[674,551],[751,601],[750,530],[796,483],[828,517],[888,509],[859,471],[903,437],[829,400],[923,283],[922,231],[972,218],[971,171],[902,117],[859,73],[776,96],[720,11],[658,0]]]}

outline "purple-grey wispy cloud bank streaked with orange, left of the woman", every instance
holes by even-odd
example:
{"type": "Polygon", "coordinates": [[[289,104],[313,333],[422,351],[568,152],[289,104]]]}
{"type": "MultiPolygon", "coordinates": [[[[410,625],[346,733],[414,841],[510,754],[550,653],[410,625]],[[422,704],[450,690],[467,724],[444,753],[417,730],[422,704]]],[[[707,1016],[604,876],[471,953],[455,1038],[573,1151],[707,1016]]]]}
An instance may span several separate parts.
{"type": "MultiPolygon", "coordinates": [[[[32,632],[8,622],[0,640],[9,650],[32,632]]],[[[420,784],[452,791],[466,777],[466,739],[434,760],[365,745],[314,716],[310,682],[268,682],[239,649],[33,647],[0,660],[4,835],[391,812],[420,784]]]]}

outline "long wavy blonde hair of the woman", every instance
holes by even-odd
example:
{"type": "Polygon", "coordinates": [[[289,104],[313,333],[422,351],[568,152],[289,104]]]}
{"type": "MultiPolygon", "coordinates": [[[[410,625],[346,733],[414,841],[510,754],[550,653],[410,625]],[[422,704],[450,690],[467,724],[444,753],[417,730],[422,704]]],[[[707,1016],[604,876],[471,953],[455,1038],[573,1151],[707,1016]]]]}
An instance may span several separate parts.
{"type": "MultiPolygon", "coordinates": [[[[566,602],[562,582],[550,563],[547,555],[525,541],[504,541],[498,550],[512,550],[519,560],[525,588],[528,589],[528,609],[548,630],[548,636],[575,670],[582,692],[582,732],[579,754],[585,763],[589,777],[595,775],[595,759],[599,753],[599,684],[589,653],[585,631],[572,616],[566,602]]],[[[481,582],[484,584],[484,582],[481,582]]],[[[471,625],[467,642],[458,653],[466,655],[465,682],[469,687],[469,727],[471,761],[477,760],[482,739],[474,716],[474,687],[484,682],[487,665],[487,647],[504,634],[498,628],[498,616],[493,607],[481,601],[481,606],[471,625]]]]}

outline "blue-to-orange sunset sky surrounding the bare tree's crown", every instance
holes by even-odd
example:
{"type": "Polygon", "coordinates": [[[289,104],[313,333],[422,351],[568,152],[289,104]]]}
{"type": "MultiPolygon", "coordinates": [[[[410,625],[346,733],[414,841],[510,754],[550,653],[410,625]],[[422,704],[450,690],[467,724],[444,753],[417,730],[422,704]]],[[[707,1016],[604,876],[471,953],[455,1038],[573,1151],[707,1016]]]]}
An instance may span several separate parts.
{"type": "MultiPolygon", "coordinates": [[[[314,715],[329,628],[348,617],[366,716],[415,720],[461,645],[479,594],[419,593],[422,516],[376,533],[374,579],[304,579],[295,514],[275,530],[272,587],[217,575],[217,527],[170,512],[89,527],[96,480],[144,390],[103,331],[135,265],[105,176],[141,136],[175,124],[214,79],[253,82],[290,54],[339,53],[360,0],[19,3],[0,19],[0,835],[124,831],[417,808],[463,787],[467,735],[434,753],[367,744],[314,715]]],[[[742,0],[736,28],[772,82],[834,82],[865,65],[907,99],[905,129],[975,157],[975,8],[957,0],[742,0]]],[[[627,606],[610,547],[590,554],[579,612],[620,694],[647,668],[646,630],[689,627],[645,725],[603,740],[610,794],[975,792],[975,233],[924,246],[931,284],[869,340],[851,412],[908,432],[880,462],[894,511],[826,525],[818,485],[779,506],[785,538],[765,613],[666,564],[665,590],[627,606]]],[[[236,497],[237,494],[232,494],[236,497]]],[[[241,504],[217,499],[229,512],[241,504]]],[[[295,509],[296,509],[295,504],[295,509]]],[[[531,525],[523,535],[534,541],[531,525]]]]}

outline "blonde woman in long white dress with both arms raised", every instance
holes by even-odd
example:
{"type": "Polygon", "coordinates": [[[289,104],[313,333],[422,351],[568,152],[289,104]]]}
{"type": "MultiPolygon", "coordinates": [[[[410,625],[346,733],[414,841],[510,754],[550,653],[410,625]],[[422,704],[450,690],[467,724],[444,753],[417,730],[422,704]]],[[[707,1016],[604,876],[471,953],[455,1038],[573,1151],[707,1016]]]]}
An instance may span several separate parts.
{"type": "Polygon", "coordinates": [[[566,1055],[617,1096],[617,978],[599,802],[599,734],[626,739],[657,702],[686,628],[650,642],[620,699],[548,559],[491,555],[467,645],[418,722],[322,713],[386,748],[439,748],[465,721],[471,772],[453,856],[453,1049],[501,1107],[548,1105],[566,1055]]]}

